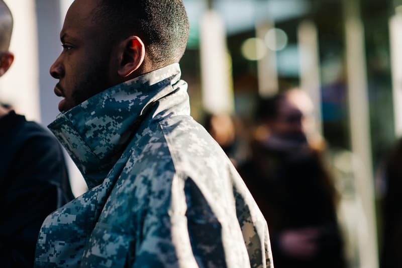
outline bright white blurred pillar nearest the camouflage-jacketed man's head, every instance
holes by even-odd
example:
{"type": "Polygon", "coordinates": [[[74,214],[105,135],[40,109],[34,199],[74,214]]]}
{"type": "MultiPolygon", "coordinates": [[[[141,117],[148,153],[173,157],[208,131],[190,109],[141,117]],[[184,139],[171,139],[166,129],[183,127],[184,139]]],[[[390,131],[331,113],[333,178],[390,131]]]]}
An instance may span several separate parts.
{"type": "Polygon", "coordinates": [[[213,114],[233,113],[232,68],[225,25],[212,10],[200,22],[200,57],[205,110],[213,114]]]}

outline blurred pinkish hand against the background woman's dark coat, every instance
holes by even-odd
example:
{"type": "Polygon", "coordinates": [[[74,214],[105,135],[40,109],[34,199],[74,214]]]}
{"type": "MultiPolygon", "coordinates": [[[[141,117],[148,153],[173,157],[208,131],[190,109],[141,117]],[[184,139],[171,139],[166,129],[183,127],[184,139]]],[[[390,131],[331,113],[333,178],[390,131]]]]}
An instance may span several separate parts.
{"type": "Polygon", "coordinates": [[[283,232],[279,237],[283,254],[295,258],[309,259],[318,253],[319,228],[305,228],[283,232]]]}

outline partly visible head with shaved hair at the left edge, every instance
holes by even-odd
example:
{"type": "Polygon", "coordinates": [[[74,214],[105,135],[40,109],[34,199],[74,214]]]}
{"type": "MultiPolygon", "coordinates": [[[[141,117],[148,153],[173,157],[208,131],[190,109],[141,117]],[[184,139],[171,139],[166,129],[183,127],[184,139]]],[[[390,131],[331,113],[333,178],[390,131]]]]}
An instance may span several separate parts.
{"type": "Polygon", "coordinates": [[[13,16],[6,3],[0,1],[0,76],[8,71],[14,61],[14,55],[9,51],[12,32],[13,16]]]}

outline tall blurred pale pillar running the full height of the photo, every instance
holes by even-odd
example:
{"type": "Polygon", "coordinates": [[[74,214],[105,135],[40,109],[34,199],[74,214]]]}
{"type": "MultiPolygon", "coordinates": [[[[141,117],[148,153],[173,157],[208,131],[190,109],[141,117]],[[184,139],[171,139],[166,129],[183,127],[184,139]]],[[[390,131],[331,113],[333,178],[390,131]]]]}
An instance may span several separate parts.
{"type": "Polygon", "coordinates": [[[356,156],[355,180],[357,198],[364,218],[358,218],[360,266],[378,267],[378,246],[372,174],[370,118],[365,60],[364,29],[359,1],[343,0],[346,33],[347,85],[352,151],[356,156]]]}

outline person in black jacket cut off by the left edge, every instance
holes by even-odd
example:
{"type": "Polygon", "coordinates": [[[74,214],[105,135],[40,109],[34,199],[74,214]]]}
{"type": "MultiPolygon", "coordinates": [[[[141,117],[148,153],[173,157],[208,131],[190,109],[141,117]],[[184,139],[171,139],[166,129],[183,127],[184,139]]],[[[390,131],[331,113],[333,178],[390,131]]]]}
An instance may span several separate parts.
{"type": "MultiPolygon", "coordinates": [[[[12,29],[10,10],[0,1],[0,76],[13,63],[12,29]]],[[[72,198],[58,141],[0,104],[0,266],[33,267],[42,222],[72,198]]]]}

